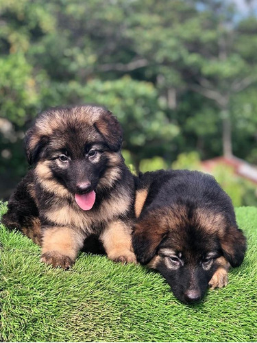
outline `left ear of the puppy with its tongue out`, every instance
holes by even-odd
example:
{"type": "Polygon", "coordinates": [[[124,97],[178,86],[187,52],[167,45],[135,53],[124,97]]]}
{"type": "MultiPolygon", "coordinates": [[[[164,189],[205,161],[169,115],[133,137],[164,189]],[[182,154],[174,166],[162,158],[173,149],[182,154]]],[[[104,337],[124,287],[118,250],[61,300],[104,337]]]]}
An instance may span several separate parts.
{"type": "Polygon", "coordinates": [[[34,127],[27,130],[25,136],[25,149],[29,165],[34,165],[38,161],[39,154],[42,151],[42,148],[47,145],[48,141],[48,137],[38,134],[34,127]]]}

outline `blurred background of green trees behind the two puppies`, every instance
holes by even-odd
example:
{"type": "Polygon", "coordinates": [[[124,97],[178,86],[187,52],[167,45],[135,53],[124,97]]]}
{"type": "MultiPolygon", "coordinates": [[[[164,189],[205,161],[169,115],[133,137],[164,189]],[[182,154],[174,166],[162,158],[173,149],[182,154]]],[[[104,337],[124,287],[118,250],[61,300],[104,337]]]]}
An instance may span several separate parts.
{"type": "Polygon", "coordinates": [[[257,205],[256,1],[1,0],[0,199],[36,114],[86,103],[118,117],[132,170],[199,169],[257,205]]]}

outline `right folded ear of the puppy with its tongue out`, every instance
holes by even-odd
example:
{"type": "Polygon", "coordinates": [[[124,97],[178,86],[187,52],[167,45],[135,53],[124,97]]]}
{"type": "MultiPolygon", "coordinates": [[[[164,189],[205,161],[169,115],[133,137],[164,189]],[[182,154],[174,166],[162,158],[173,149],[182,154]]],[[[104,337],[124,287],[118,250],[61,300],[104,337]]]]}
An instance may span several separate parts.
{"type": "Polygon", "coordinates": [[[106,140],[108,146],[114,152],[121,149],[123,131],[116,117],[108,110],[105,110],[99,120],[95,123],[95,128],[106,140]]]}

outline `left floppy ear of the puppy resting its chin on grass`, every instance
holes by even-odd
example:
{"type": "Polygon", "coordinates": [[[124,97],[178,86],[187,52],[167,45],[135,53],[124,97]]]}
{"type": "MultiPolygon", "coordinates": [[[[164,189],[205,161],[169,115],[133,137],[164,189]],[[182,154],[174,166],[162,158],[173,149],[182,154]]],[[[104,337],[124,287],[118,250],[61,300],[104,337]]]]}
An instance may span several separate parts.
{"type": "Polygon", "coordinates": [[[132,245],[139,263],[147,264],[151,261],[167,233],[167,228],[158,218],[148,217],[134,226],[132,245]]]}

